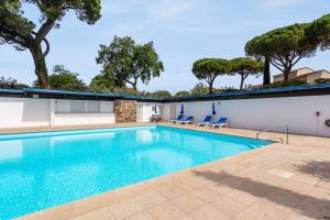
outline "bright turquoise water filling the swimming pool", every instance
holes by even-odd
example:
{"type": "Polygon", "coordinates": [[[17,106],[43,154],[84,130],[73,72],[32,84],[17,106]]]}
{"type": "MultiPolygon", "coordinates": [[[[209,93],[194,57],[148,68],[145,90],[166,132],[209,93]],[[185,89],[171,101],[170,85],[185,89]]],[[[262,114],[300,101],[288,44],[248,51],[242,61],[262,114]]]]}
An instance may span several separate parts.
{"type": "Polygon", "coordinates": [[[268,144],[167,127],[0,135],[0,219],[268,144]]]}

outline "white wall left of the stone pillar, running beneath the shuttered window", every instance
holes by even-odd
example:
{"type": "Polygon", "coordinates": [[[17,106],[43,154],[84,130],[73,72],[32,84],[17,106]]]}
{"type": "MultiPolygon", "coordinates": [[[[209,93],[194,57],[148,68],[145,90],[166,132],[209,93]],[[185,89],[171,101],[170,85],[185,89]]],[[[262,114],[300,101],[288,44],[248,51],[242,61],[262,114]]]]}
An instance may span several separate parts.
{"type": "Polygon", "coordinates": [[[80,124],[114,123],[113,101],[101,101],[101,113],[56,113],[67,112],[70,100],[2,98],[0,97],[0,128],[58,127],[80,124]]]}

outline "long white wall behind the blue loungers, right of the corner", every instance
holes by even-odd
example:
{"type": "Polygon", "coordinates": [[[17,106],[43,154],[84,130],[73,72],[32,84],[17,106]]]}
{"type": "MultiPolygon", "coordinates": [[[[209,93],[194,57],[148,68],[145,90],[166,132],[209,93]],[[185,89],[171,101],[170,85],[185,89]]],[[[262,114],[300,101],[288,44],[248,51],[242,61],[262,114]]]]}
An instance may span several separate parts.
{"type": "MultiPolygon", "coordinates": [[[[274,125],[288,124],[292,133],[330,136],[324,121],[330,119],[330,96],[219,100],[217,116],[227,117],[232,128],[264,130],[274,125]],[[320,111],[321,116],[316,117],[320,111]]],[[[169,119],[170,105],[177,112],[182,103],[165,103],[163,118],[169,119]]],[[[185,116],[202,120],[211,114],[212,101],[184,102],[185,116]]],[[[283,131],[283,129],[275,129],[283,131]]]]}

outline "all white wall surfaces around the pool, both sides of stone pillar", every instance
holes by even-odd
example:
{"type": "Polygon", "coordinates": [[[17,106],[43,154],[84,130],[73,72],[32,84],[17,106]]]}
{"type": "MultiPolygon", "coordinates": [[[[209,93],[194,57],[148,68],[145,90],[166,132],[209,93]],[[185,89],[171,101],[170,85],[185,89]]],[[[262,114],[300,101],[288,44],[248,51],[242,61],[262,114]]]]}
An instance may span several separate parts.
{"type": "MultiPolygon", "coordinates": [[[[274,125],[288,124],[292,133],[330,136],[324,121],[330,119],[330,96],[289,98],[263,98],[220,100],[216,103],[216,118],[227,117],[232,128],[264,130],[274,125]],[[219,105],[220,103],[220,105],[219,105]],[[321,116],[316,117],[316,111],[321,116]]],[[[154,114],[155,103],[139,102],[143,109],[143,122],[154,114]]],[[[170,118],[170,105],[177,113],[180,102],[157,103],[158,113],[170,118]]],[[[185,114],[202,120],[211,113],[212,101],[185,102],[185,114]]],[[[113,108],[112,101],[101,102],[102,112],[113,108]]],[[[102,113],[55,113],[54,99],[0,98],[0,128],[77,125],[114,123],[113,112],[102,113]]],[[[278,130],[280,131],[280,130],[278,130]]]]}

